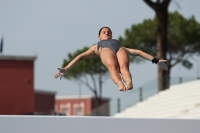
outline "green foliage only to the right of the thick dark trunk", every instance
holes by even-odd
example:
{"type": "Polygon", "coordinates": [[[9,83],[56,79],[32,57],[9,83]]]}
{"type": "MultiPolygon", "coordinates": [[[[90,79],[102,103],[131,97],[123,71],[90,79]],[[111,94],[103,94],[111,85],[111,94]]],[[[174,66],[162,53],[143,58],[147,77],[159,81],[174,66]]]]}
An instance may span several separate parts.
{"type": "Polygon", "coordinates": [[[191,68],[189,60],[193,54],[200,54],[200,23],[194,16],[184,18],[178,12],[169,14],[168,23],[168,58],[171,66],[182,62],[186,68],[191,68]]]}

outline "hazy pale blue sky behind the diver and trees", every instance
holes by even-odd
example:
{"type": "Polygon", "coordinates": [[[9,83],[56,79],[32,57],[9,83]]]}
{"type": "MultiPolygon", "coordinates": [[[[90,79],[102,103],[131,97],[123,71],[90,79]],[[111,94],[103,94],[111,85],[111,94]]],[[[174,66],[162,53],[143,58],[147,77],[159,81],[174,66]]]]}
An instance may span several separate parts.
{"type": "MultiPolygon", "coordinates": [[[[194,15],[200,22],[199,0],[176,2],[171,2],[169,11],[177,10],[186,18],[194,15]]],[[[153,18],[154,14],[142,0],[0,0],[3,55],[37,56],[34,70],[36,89],[54,91],[57,95],[78,95],[76,81],[54,79],[67,54],[97,43],[98,31],[103,26],[109,26],[113,38],[117,39],[132,24],[153,18]]],[[[200,61],[199,57],[196,58],[200,61]]],[[[171,76],[196,77],[197,63],[192,62],[193,69],[177,65],[171,76]]],[[[148,61],[131,64],[130,71],[135,88],[157,78],[157,66],[148,61]]],[[[124,95],[111,80],[103,87],[105,97],[124,95]]],[[[82,94],[92,95],[85,86],[81,88],[82,94]]]]}

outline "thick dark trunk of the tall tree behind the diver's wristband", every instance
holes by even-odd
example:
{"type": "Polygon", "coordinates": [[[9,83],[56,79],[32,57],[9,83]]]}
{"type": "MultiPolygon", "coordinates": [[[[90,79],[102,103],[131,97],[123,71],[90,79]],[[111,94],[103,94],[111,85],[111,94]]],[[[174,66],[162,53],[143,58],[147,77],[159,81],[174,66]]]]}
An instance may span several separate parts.
{"type": "MultiPolygon", "coordinates": [[[[157,57],[159,59],[166,59],[168,51],[167,43],[167,26],[168,26],[168,7],[171,0],[144,0],[144,2],[151,7],[156,14],[156,47],[157,57]]],[[[158,69],[158,88],[164,90],[169,88],[169,72],[158,69]]]]}

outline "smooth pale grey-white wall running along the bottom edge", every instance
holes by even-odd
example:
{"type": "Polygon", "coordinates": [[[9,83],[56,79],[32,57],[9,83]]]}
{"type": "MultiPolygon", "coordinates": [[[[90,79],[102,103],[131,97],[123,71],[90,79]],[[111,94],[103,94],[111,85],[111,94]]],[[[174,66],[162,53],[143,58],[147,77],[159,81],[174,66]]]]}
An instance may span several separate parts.
{"type": "Polygon", "coordinates": [[[200,120],[0,116],[0,133],[199,133],[200,120]]]}

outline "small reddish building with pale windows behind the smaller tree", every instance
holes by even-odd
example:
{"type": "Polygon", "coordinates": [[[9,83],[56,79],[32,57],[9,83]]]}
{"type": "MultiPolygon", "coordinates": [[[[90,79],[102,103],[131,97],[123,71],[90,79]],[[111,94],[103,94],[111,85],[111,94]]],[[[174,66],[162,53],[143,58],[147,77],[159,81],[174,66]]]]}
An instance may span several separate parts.
{"type": "Polygon", "coordinates": [[[62,115],[109,116],[109,99],[102,98],[98,109],[95,107],[95,99],[92,96],[57,96],[55,101],[55,111],[62,115]]]}

